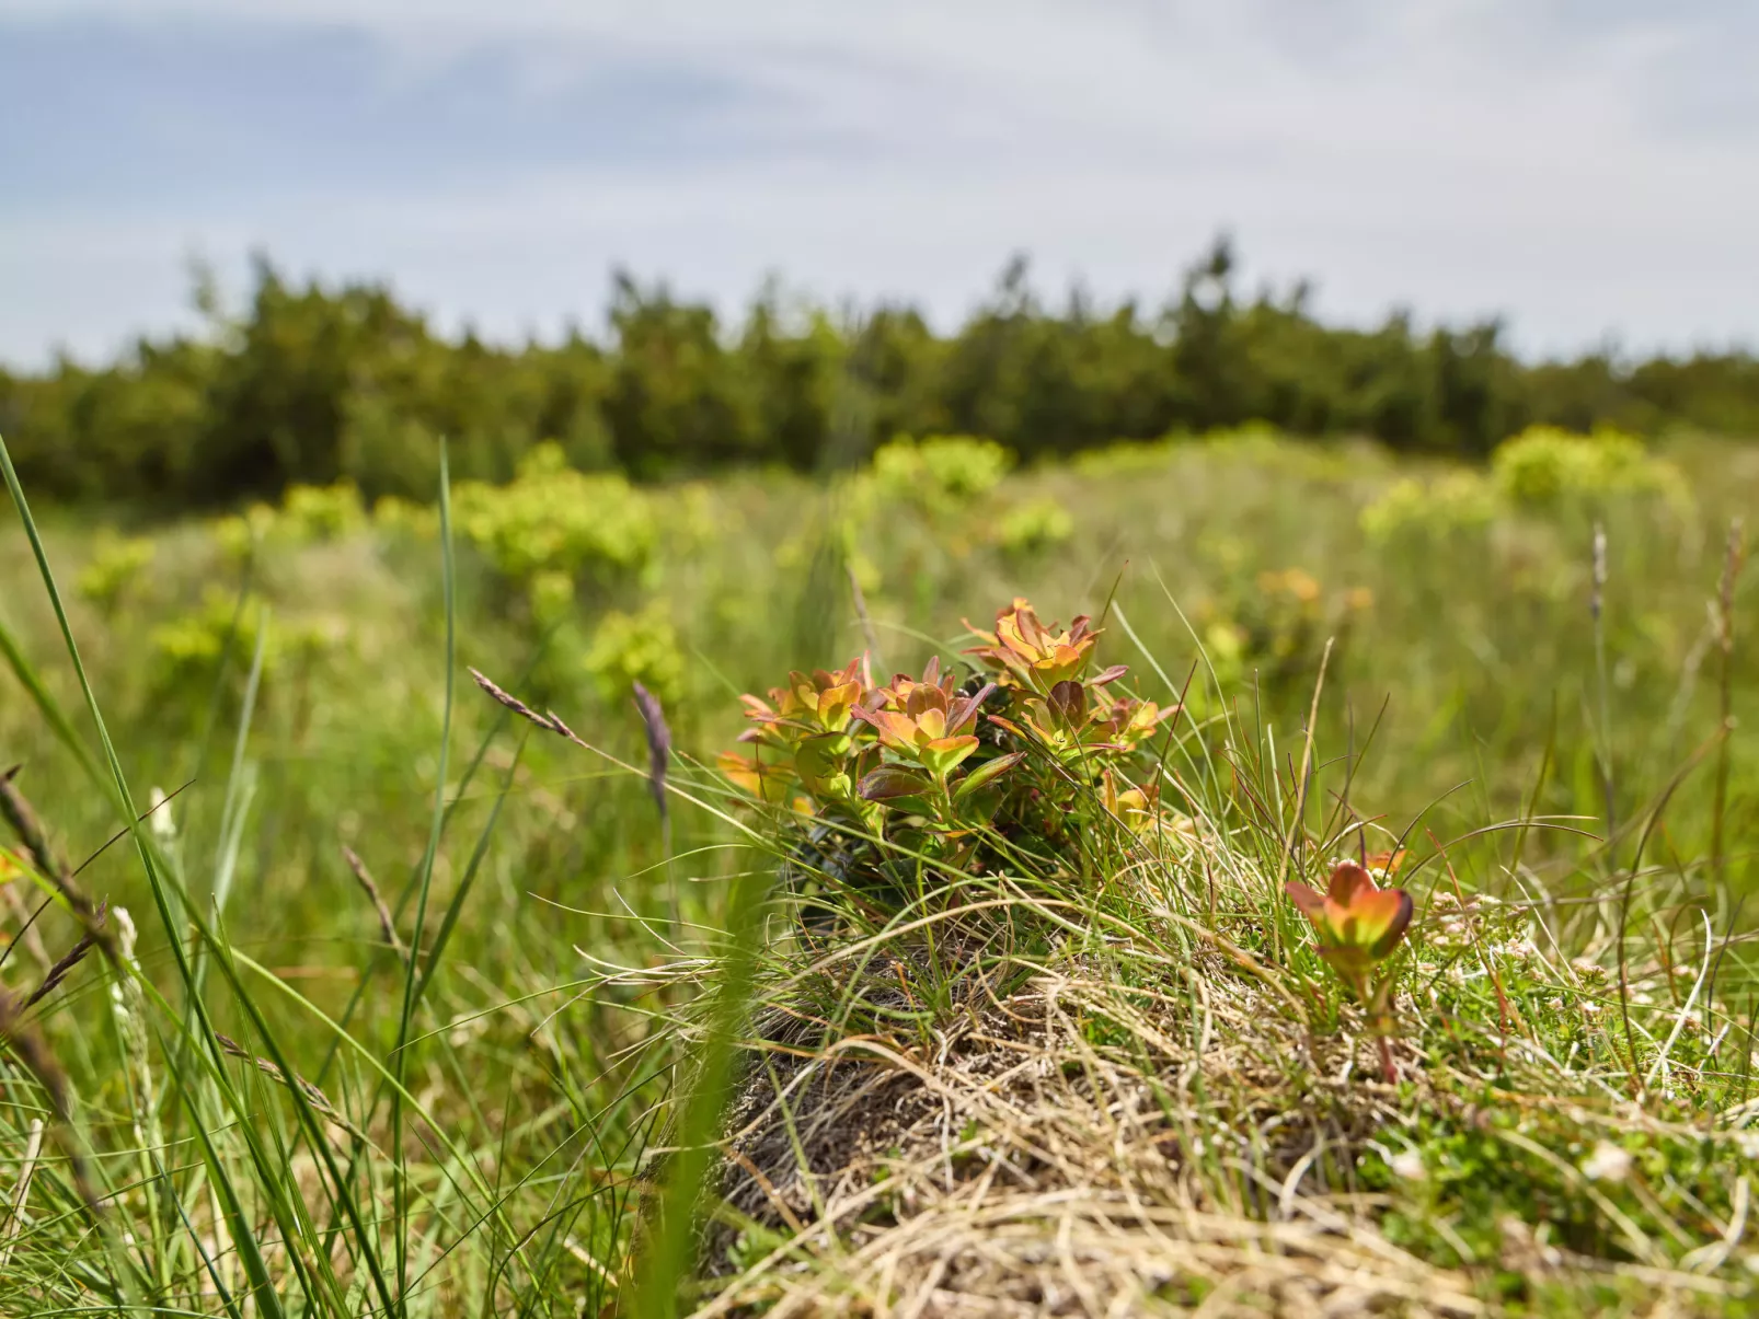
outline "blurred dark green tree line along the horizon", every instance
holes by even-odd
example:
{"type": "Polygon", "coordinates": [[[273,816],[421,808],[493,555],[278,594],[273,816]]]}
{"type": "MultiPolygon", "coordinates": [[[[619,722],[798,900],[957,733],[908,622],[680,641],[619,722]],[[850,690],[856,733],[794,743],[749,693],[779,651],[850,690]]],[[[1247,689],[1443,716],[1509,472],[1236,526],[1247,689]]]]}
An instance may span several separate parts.
{"type": "Polygon", "coordinates": [[[0,369],[0,434],[44,496],[157,508],[338,478],[427,498],[440,436],[461,478],[507,480],[554,440],[582,470],[661,480],[832,470],[894,434],[982,434],[1025,461],[1245,422],[1460,457],[1534,422],[1759,434],[1750,352],[1523,362],[1497,322],[1342,329],[1309,292],[1244,292],[1223,239],[1159,304],[1052,306],[1017,259],[938,334],[909,304],[830,311],[772,290],[723,324],[617,273],[603,334],[498,346],[438,332],[383,283],[301,285],[259,259],[234,313],[199,287],[201,332],[99,368],[0,369]]]}

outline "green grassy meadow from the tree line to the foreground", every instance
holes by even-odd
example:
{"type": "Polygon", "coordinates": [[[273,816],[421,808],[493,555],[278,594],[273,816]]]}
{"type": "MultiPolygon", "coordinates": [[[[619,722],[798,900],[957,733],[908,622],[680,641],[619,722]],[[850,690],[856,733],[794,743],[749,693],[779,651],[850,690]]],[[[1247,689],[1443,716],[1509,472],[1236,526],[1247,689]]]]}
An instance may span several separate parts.
{"type": "Polygon", "coordinates": [[[0,1312],[1745,1312],[1754,508],[1727,440],[1456,470],[1263,431],[9,508],[0,770],[42,837],[0,837],[0,1312]],[[839,981],[716,769],[739,695],[952,663],[1015,596],[1182,700],[1147,772],[1191,842],[850,906],[902,951],[839,981]],[[1383,1078],[1282,883],[1395,848],[1383,1078]],[[1036,1004],[1031,1103],[966,964],[1036,1004]],[[857,1039],[836,1078],[957,1120],[806,1078],[857,1039]],[[714,1147],[763,1085],[774,1129],[714,1147]],[[837,1180],[837,1124],[883,1177],[837,1180]]]}

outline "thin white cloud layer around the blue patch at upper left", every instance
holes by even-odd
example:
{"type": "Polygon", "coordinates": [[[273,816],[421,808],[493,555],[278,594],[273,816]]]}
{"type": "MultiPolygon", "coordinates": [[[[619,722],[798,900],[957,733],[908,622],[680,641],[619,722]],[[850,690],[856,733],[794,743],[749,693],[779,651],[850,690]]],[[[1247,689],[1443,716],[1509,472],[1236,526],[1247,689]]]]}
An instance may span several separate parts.
{"type": "MultiPolygon", "coordinates": [[[[0,16],[47,0],[0,0],[0,16]]],[[[102,18],[236,21],[222,0],[53,0],[102,18]]],[[[1356,320],[1395,302],[1506,311],[1573,348],[1759,338],[1759,123],[1694,132],[1657,98],[1719,60],[1710,7],[1534,0],[259,0],[252,14],[371,28],[420,79],[480,42],[528,42],[533,95],[582,51],[642,53],[774,93],[762,162],[665,157],[533,169],[493,195],[336,193],[69,225],[0,222],[0,357],[86,350],[162,322],[199,246],[383,273],[456,318],[517,332],[591,315],[612,260],[735,302],[779,269],[821,295],[918,295],[957,315],[1011,250],[1105,294],[1166,290],[1221,227],[1258,269],[1312,274],[1356,320]],[[799,123],[795,123],[799,120],[799,123]],[[860,149],[825,149],[823,141],[860,149]],[[818,144],[814,144],[818,142],[818,144]],[[127,255],[125,255],[127,253],[127,255]],[[109,311],[77,285],[91,257],[109,311]],[[28,267],[28,269],[26,269],[28,267]],[[65,288],[69,297],[53,292],[65,288]],[[74,311],[77,310],[77,311],[74,311]]],[[[1719,102],[1720,104],[1720,102],[1719,102]]]]}

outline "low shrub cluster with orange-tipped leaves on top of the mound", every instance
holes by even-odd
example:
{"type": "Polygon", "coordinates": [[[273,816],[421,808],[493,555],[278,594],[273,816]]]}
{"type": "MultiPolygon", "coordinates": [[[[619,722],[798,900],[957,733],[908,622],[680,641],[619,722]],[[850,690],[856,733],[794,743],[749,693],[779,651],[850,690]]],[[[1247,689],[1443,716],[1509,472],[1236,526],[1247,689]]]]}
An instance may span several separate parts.
{"type": "Polygon", "coordinates": [[[1177,707],[1096,670],[1091,619],[1047,626],[1015,600],[971,631],[964,679],[934,658],[878,682],[858,658],[742,698],[748,751],[719,765],[776,811],[797,869],[895,906],[957,876],[1075,878],[1106,841],[1177,823],[1149,754],[1177,707]]]}

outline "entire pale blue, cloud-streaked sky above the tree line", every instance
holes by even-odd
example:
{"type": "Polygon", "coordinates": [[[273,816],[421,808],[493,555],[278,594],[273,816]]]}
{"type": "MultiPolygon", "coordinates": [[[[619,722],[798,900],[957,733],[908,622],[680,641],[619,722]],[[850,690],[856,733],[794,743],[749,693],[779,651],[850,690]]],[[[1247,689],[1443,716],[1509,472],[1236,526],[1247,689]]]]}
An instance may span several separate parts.
{"type": "Polygon", "coordinates": [[[1157,304],[1217,232],[1332,320],[1759,345],[1748,0],[0,0],[0,362],[195,324],[190,262],[491,338],[1011,253],[1157,304]]]}

